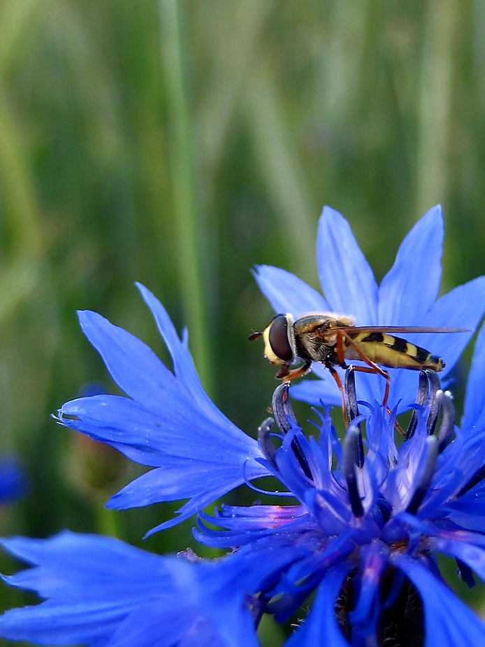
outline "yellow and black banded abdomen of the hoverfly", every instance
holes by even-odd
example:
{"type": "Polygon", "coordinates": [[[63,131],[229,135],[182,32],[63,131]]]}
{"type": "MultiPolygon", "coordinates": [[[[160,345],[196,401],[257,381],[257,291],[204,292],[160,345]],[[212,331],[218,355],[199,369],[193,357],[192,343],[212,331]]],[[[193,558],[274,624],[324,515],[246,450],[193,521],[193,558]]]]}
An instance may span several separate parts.
{"type": "MultiPolygon", "coordinates": [[[[365,357],[391,369],[433,369],[440,372],[444,368],[441,357],[431,355],[425,348],[416,346],[401,337],[382,332],[361,332],[352,335],[352,341],[359,347],[365,357]]],[[[345,357],[349,360],[361,360],[352,346],[345,348],[345,357]]]]}

